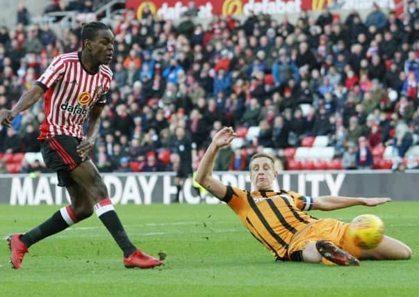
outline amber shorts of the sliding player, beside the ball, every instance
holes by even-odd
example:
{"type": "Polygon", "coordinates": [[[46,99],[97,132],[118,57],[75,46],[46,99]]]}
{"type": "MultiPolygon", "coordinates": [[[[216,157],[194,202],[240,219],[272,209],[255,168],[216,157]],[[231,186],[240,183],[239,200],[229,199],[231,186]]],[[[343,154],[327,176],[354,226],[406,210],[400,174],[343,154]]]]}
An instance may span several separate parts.
{"type": "Polygon", "coordinates": [[[339,248],[350,252],[358,259],[361,257],[361,248],[355,246],[350,238],[350,224],[343,223],[334,218],[324,218],[313,223],[302,234],[297,234],[288,248],[288,256],[299,250],[304,250],[309,243],[324,239],[336,244],[339,248]]]}

